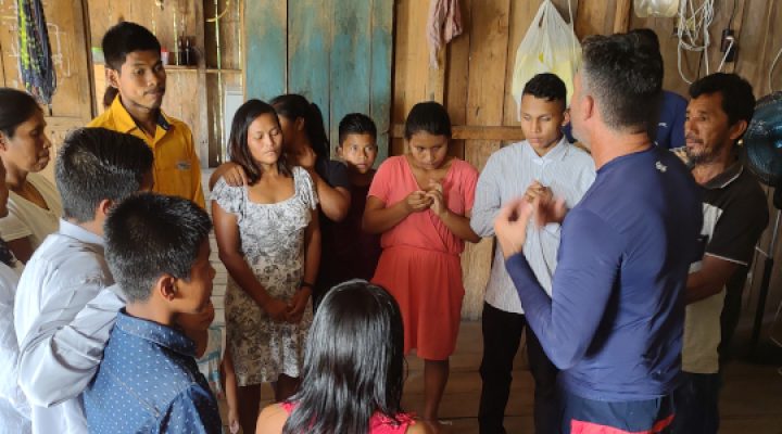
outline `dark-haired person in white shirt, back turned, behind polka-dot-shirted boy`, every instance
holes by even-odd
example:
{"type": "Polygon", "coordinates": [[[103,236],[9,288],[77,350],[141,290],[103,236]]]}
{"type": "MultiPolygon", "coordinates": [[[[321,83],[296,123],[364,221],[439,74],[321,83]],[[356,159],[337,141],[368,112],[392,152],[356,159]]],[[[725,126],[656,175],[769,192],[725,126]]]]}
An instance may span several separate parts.
{"type": "Polygon", "coordinates": [[[79,397],[98,369],[123,301],[103,258],[113,204],[152,187],[152,151],[138,138],[84,128],[64,141],[55,176],[60,230],[27,263],[16,291],[18,383],[33,433],[87,433],[79,397]]]}

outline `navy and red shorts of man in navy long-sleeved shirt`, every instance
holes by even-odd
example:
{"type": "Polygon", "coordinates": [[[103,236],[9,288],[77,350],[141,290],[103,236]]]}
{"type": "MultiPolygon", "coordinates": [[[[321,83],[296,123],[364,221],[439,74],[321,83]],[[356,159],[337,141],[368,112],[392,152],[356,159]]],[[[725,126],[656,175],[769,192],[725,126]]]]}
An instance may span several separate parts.
{"type": "Polygon", "coordinates": [[[676,420],[670,396],[644,400],[606,401],[586,399],[562,391],[559,400],[562,431],[558,432],[563,434],[608,432],[670,434],[671,420],[676,420]]]}

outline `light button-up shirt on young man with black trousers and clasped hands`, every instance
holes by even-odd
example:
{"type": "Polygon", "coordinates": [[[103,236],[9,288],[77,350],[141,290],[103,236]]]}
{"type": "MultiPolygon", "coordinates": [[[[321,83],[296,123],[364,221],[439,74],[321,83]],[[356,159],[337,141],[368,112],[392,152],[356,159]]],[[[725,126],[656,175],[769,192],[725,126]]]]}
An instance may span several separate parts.
{"type": "MultiPolygon", "coordinates": [[[[564,197],[572,208],[595,178],[594,162],[584,151],[563,137],[545,155],[539,156],[525,140],[493,153],[478,178],[470,226],[480,237],[494,235],[494,219],[508,202],[521,196],[534,181],[548,187],[555,197],[564,197]]],[[[541,286],[551,295],[552,278],[559,247],[559,225],[527,228],[524,253],[541,286]]],[[[516,286],[505,270],[505,258],[494,248],[485,301],[497,309],[524,314],[516,286]]]]}

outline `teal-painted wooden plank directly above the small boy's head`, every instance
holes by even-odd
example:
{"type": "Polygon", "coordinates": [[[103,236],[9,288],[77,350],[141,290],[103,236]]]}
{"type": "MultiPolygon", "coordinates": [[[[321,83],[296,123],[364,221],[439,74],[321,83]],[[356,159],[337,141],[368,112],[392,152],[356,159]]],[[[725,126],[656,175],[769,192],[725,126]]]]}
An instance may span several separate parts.
{"type": "Polygon", "coordinates": [[[368,1],[335,0],[329,123],[332,151],[342,117],[352,112],[369,113],[370,10],[368,1]]]}

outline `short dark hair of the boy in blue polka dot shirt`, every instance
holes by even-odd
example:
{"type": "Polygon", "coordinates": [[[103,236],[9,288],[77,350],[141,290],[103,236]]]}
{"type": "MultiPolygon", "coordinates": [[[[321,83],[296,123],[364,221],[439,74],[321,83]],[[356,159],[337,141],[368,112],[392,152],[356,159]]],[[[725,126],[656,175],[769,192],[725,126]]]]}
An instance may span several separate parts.
{"type": "Polygon", "coordinates": [[[210,230],[206,212],[182,197],[140,193],[114,207],[104,226],[105,258],[128,302],[149,299],[164,273],[189,280],[210,230]]]}

